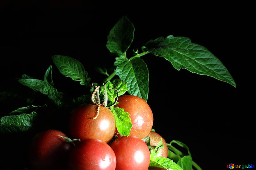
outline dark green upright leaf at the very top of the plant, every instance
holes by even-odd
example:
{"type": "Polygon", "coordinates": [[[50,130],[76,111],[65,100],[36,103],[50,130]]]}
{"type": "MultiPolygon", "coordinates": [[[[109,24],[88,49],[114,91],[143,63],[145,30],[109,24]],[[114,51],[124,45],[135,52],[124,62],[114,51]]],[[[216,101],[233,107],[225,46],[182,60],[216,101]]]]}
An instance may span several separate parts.
{"type": "Polygon", "coordinates": [[[107,48],[111,53],[126,58],[126,51],[133,41],[134,26],[127,17],[122,17],[110,30],[107,48]]]}

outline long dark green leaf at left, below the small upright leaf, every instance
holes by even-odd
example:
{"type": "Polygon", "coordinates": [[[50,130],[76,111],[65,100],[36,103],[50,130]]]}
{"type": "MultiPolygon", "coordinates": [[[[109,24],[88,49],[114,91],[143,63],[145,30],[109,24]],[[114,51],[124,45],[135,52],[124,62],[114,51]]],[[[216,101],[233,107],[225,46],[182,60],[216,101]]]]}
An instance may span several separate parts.
{"type": "Polygon", "coordinates": [[[49,83],[38,80],[38,79],[19,79],[19,82],[22,85],[26,85],[34,91],[39,91],[49,97],[58,107],[61,106],[59,100],[59,94],[56,88],[52,87],[49,83]]]}

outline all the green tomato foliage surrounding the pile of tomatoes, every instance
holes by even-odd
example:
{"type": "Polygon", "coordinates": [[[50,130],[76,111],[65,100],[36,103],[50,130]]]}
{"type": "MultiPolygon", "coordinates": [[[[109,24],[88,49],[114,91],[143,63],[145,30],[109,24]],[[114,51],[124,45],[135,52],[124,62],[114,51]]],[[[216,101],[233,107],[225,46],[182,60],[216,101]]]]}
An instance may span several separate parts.
{"type": "MultiPolygon", "coordinates": [[[[148,67],[140,57],[149,53],[155,56],[164,57],[177,70],[186,69],[192,73],[207,75],[236,87],[234,79],[220,60],[208,49],[201,45],[191,43],[191,40],[186,37],[174,37],[169,35],[165,38],[159,37],[155,40],[150,40],[141,48],[141,53],[139,53],[138,49],[133,50],[134,56],[128,58],[126,52],[133,41],[134,31],[135,28],[132,22],[127,17],[122,17],[110,30],[107,37],[108,41],[106,46],[108,50],[117,56],[115,58],[114,71],[109,74],[105,67],[96,68],[99,73],[106,75],[104,83],[106,84],[108,106],[115,104],[118,95],[123,95],[126,91],[145,101],[148,100],[148,67]],[[110,82],[115,76],[118,76],[120,79],[114,79],[110,82]]],[[[78,60],[63,55],[54,55],[52,56],[52,60],[60,73],[64,76],[70,77],[74,81],[79,81],[80,85],[90,87],[91,78],[88,77],[88,72],[85,71],[84,66],[78,60]]],[[[50,65],[44,74],[44,80],[32,78],[24,74],[18,81],[22,85],[28,86],[30,89],[47,96],[53,103],[53,106],[55,107],[54,109],[63,109],[68,107],[68,105],[69,107],[73,107],[81,103],[90,102],[90,94],[69,98],[65,93],[58,92],[53,84],[52,70],[53,68],[50,65]]],[[[96,84],[94,83],[94,85],[96,84]]],[[[7,93],[1,92],[0,99],[4,99],[4,96],[8,95],[7,93]]],[[[102,86],[99,89],[101,100],[104,100],[104,93],[105,88],[102,86]]],[[[12,111],[9,116],[1,118],[0,134],[25,132],[34,126],[35,120],[38,118],[38,115],[35,112],[37,111],[36,109],[42,109],[44,107],[32,105],[34,100],[31,98],[27,99],[27,101],[30,104],[29,106],[20,107],[12,111]],[[28,114],[29,112],[30,114],[28,114]]],[[[118,132],[121,135],[129,136],[132,128],[129,113],[119,107],[112,106],[110,109],[115,115],[118,132]]],[[[170,159],[157,157],[156,153],[162,147],[161,142],[151,150],[151,166],[172,168],[174,170],[179,170],[181,168],[183,168],[183,170],[191,170],[193,165],[196,169],[201,169],[195,162],[193,162],[188,147],[179,141],[172,141],[170,144],[167,144],[169,149],[168,157],[170,159]],[[184,155],[174,148],[172,143],[176,143],[179,146],[186,148],[188,150],[188,155],[184,155]],[[170,161],[171,159],[177,164],[170,161]]]]}

